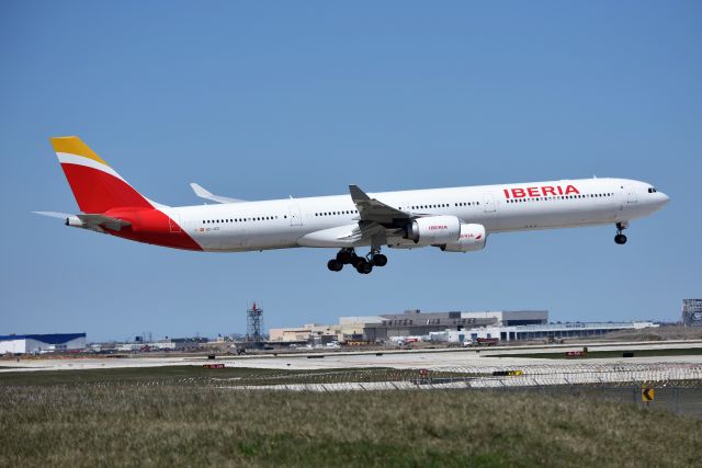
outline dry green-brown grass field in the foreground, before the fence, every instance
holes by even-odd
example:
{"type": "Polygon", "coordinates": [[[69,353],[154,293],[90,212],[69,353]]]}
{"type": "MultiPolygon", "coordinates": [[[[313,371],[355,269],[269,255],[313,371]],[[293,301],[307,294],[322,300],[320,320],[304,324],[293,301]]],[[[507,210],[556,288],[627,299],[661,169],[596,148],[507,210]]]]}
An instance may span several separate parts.
{"type": "Polygon", "coordinates": [[[177,368],[145,386],[157,369],[138,370],[147,374],[81,384],[66,380],[73,372],[0,374],[0,466],[638,467],[702,457],[701,421],[600,399],[253,392],[174,385],[177,368]]]}

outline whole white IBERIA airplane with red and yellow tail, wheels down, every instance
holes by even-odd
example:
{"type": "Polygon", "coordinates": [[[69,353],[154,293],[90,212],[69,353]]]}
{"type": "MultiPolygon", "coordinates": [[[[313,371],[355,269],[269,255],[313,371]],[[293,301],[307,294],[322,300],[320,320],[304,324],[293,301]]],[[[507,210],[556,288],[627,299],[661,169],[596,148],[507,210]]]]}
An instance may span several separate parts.
{"type": "Polygon", "coordinates": [[[196,196],[215,202],[166,206],[129,185],[76,136],[50,138],[80,214],[36,214],[66,226],[120,238],[205,252],[297,247],[335,248],[327,267],[351,265],[361,274],[387,264],[384,247],[435,247],[443,252],[483,250],[498,232],[614,225],[618,244],[630,221],[660,209],[668,196],[646,182],[581,179],[247,202],[214,195],[196,183],[196,196]],[[369,248],[365,255],[356,248],[369,248]]]}

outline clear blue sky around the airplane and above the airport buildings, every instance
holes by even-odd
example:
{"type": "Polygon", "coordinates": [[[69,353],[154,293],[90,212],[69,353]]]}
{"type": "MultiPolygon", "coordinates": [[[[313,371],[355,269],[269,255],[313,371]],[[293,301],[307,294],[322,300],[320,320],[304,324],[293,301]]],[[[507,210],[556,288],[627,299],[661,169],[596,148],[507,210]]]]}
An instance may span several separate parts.
{"type": "Polygon", "coordinates": [[[244,332],[339,316],[545,308],[676,320],[702,296],[702,4],[0,3],[0,334],[244,332]],[[484,252],[167,250],[68,229],[47,138],[80,135],[146,196],[248,199],[622,176],[671,197],[614,228],[498,235],[484,252]]]}

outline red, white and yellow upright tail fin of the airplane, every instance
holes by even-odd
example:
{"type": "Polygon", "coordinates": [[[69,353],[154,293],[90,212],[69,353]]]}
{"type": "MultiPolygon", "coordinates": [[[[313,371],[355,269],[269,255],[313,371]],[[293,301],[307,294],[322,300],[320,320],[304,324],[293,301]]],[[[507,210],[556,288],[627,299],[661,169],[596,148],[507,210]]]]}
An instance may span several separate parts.
{"type": "Polygon", "coordinates": [[[83,213],[152,205],[78,137],[52,138],[78,207],[83,213]]]}

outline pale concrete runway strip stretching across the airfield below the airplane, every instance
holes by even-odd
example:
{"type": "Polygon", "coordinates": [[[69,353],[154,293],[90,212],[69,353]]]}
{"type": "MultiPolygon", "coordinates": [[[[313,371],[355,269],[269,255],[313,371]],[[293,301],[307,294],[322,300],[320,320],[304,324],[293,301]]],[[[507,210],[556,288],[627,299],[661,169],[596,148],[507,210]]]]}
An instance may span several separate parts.
{"type": "MultiPolygon", "coordinates": [[[[702,349],[702,341],[675,342],[626,342],[586,343],[590,352],[601,351],[652,351],[702,349]]],[[[216,362],[227,367],[249,367],[269,369],[353,369],[364,367],[388,367],[396,369],[426,368],[432,370],[454,370],[461,368],[492,369],[524,366],[554,366],[568,369],[581,364],[588,365],[702,365],[702,354],[675,356],[635,356],[604,358],[548,359],[542,357],[499,357],[507,354],[566,353],[582,350],[584,344],[499,346],[483,349],[446,350],[387,350],[387,351],[319,351],[262,355],[217,356],[216,362]]],[[[149,356],[148,354],[89,357],[32,357],[0,361],[0,376],[7,372],[104,369],[121,367],[201,366],[212,362],[206,355],[197,356],[149,356]]]]}

